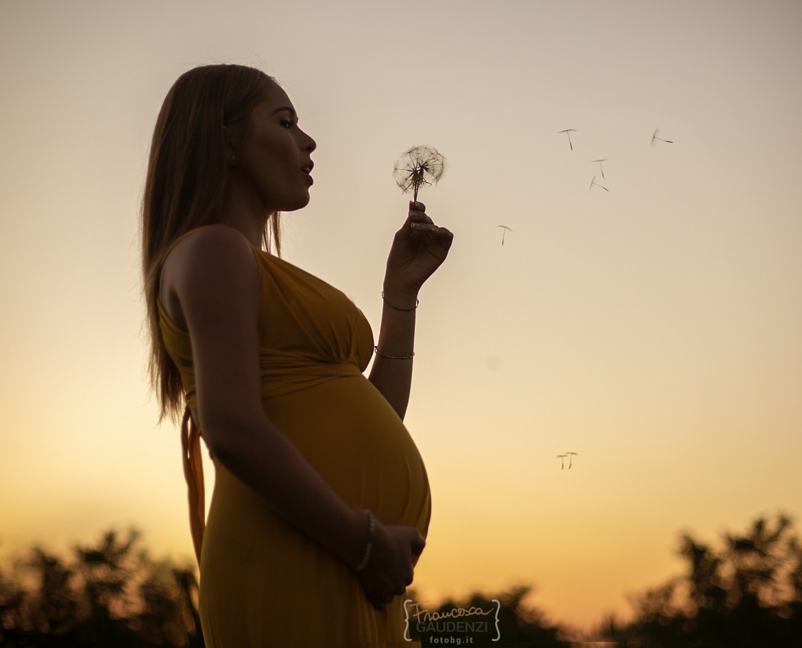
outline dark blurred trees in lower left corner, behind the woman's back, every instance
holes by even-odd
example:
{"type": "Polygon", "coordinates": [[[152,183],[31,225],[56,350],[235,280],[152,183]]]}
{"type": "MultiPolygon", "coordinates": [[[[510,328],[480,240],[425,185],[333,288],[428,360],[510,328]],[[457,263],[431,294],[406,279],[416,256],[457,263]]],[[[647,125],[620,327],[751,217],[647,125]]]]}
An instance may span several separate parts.
{"type": "Polygon", "coordinates": [[[39,547],[0,571],[0,646],[203,646],[194,571],[108,531],[68,558],[39,547]]]}

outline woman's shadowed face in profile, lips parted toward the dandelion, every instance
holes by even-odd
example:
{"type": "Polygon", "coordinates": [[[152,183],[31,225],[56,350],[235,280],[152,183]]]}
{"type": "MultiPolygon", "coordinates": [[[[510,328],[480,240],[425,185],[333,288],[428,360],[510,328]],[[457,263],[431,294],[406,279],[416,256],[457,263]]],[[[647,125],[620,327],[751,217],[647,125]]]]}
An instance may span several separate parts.
{"type": "Polygon", "coordinates": [[[268,211],[294,211],[309,203],[314,139],[298,127],[286,92],[271,83],[253,108],[237,168],[268,211]]]}

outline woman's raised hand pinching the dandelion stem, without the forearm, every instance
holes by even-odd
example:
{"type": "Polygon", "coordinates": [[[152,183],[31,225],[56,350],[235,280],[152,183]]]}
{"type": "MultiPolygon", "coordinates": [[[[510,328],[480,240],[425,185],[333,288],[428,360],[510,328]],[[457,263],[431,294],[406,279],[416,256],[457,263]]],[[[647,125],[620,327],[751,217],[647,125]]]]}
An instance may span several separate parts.
{"type": "Polygon", "coordinates": [[[440,264],[446,260],[454,235],[445,227],[437,227],[426,215],[423,203],[409,203],[409,215],[395,232],[390,256],[387,257],[385,291],[416,296],[440,264]]]}

